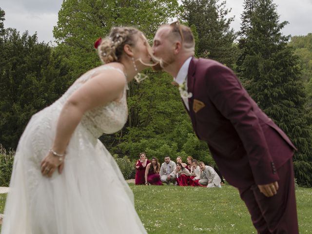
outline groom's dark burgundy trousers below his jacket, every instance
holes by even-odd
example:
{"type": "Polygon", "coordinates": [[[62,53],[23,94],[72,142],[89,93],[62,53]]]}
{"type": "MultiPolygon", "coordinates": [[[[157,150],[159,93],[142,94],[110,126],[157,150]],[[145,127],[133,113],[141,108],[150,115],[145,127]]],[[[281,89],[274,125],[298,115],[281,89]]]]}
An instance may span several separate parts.
{"type": "Polygon", "coordinates": [[[292,158],[277,169],[279,189],[266,197],[257,185],[239,189],[258,234],[298,234],[292,158]]]}

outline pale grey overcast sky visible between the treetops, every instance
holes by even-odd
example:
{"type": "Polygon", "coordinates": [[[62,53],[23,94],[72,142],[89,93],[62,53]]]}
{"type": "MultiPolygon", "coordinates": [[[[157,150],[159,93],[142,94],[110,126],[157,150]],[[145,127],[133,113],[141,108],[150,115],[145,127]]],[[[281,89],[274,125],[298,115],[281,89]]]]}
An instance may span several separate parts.
{"type": "MultiPolygon", "coordinates": [[[[232,27],[240,27],[240,15],[244,0],[227,0],[227,7],[232,8],[229,16],[235,16],[232,27]]],[[[289,24],[283,29],[284,35],[307,35],[312,33],[312,0],[274,0],[280,21],[289,24]]],[[[53,26],[57,24],[58,12],[62,0],[0,0],[0,8],[5,11],[4,27],[16,28],[21,33],[25,30],[33,35],[38,33],[39,41],[54,41],[53,26]]]]}

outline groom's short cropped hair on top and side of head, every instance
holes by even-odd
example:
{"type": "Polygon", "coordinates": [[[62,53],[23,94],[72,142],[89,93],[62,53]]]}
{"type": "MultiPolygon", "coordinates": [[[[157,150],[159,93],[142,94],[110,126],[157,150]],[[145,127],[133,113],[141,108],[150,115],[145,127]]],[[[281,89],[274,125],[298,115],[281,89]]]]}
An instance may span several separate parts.
{"type": "Polygon", "coordinates": [[[195,53],[195,39],[190,27],[180,24],[179,21],[171,24],[163,24],[162,26],[169,26],[171,28],[168,38],[180,40],[186,52],[195,53]]]}

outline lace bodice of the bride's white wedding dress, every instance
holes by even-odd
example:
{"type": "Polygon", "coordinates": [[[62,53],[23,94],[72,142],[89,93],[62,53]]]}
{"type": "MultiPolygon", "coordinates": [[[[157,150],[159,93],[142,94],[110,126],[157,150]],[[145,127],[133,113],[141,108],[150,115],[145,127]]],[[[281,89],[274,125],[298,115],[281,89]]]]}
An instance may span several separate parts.
{"type": "MultiPolygon", "coordinates": [[[[124,75],[124,73],[113,66],[103,65],[99,66],[89,72],[83,74],[75,83],[66,91],[66,93],[57,101],[64,105],[67,99],[78,90],[92,75],[101,70],[117,70],[124,75]]],[[[127,80],[125,77],[125,89],[122,98],[119,101],[112,101],[104,106],[99,106],[95,109],[87,111],[80,124],[84,126],[94,137],[98,138],[103,133],[112,134],[121,130],[127,121],[128,107],[126,99],[126,89],[128,89],[127,80]]]]}

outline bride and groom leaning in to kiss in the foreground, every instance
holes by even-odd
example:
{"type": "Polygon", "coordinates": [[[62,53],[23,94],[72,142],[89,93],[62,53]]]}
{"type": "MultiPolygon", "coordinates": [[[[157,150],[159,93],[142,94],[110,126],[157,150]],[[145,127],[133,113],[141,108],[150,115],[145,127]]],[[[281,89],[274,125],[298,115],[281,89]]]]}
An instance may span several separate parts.
{"type": "Polygon", "coordinates": [[[123,128],[127,84],[151,66],[174,77],[197,137],[238,188],[257,232],[298,233],[296,148],[231,69],[194,57],[189,27],[160,26],[153,47],[136,28],[116,27],[95,46],[103,65],[35,114],[20,137],[2,234],[146,234],[132,191],[98,137],[123,128]]]}

